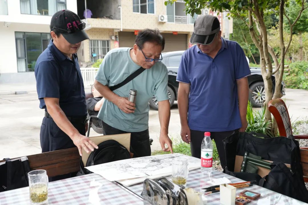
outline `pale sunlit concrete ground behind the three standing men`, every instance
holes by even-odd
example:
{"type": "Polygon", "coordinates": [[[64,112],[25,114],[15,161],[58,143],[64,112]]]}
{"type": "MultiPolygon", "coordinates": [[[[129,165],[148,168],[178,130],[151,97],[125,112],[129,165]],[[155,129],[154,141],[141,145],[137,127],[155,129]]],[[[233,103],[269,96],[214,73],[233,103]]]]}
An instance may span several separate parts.
{"type": "MultiPolygon", "coordinates": [[[[86,88],[86,92],[89,91],[90,89],[86,88]]],[[[308,116],[307,90],[286,89],[283,100],[286,101],[292,120],[308,116]]],[[[0,159],[40,153],[39,132],[43,116],[44,111],[39,109],[35,85],[0,85],[0,159]],[[27,91],[27,94],[9,94],[15,91],[27,91]]],[[[154,140],[152,151],[160,149],[159,132],[158,111],[150,110],[149,133],[154,140]]],[[[91,129],[90,136],[97,135],[91,129]]],[[[173,140],[180,140],[180,117],[176,103],[171,108],[169,136],[173,140]]]]}

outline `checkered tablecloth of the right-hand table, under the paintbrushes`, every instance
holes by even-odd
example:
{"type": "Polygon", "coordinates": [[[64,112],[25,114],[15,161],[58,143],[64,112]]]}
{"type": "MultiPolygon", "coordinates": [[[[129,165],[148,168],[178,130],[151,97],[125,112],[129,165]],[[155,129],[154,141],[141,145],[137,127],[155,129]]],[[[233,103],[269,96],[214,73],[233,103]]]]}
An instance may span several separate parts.
{"type": "MultiPolygon", "coordinates": [[[[231,183],[238,183],[238,182],[244,182],[241,179],[235,178],[233,176],[221,173],[219,171],[213,170],[212,172],[212,177],[213,178],[223,178],[226,177],[228,178],[231,183]]],[[[168,179],[171,179],[171,176],[167,177],[168,179]]],[[[188,174],[188,179],[187,179],[187,184],[186,187],[191,187],[193,189],[195,189],[196,191],[201,191],[201,188],[203,187],[209,187],[209,186],[213,186],[213,184],[208,183],[209,181],[209,175],[204,175],[201,173],[200,169],[195,169],[193,171],[189,171],[188,174]]],[[[142,188],[143,188],[143,183],[138,183],[129,187],[126,187],[129,190],[131,190],[132,192],[141,195],[142,192],[142,188]]],[[[251,187],[245,187],[245,188],[241,188],[241,189],[237,189],[236,193],[239,194],[241,191],[244,190],[251,190],[254,192],[258,192],[261,193],[261,196],[258,200],[254,200],[251,201],[249,204],[258,204],[258,205],[274,205],[274,204],[306,204],[304,202],[298,201],[296,199],[292,199],[288,196],[279,194],[277,192],[265,189],[263,187],[257,186],[257,185],[253,185],[251,187]]],[[[208,205],[211,204],[220,204],[220,193],[213,193],[213,194],[209,194],[206,196],[206,198],[208,199],[208,205]]]]}

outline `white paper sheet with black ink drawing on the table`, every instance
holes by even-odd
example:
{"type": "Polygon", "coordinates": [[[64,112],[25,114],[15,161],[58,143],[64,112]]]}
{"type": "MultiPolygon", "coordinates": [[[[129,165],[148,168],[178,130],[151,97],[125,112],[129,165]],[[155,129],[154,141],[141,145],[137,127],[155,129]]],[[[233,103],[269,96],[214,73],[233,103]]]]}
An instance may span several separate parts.
{"type": "Polygon", "coordinates": [[[174,153],[119,160],[86,168],[109,181],[149,177],[153,175],[170,175],[172,171],[172,159],[176,157],[186,158],[189,168],[200,167],[200,159],[174,153]]]}

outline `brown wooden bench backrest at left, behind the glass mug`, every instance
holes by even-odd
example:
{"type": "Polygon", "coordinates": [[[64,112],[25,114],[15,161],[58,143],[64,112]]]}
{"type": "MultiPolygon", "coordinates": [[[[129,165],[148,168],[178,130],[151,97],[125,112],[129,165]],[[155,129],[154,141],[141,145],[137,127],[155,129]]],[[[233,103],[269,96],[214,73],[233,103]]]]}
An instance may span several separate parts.
{"type": "MultiPolygon", "coordinates": [[[[78,148],[68,148],[27,156],[31,170],[44,169],[48,177],[80,170],[78,148]]],[[[3,162],[5,160],[1,160],[3,162]]]]}

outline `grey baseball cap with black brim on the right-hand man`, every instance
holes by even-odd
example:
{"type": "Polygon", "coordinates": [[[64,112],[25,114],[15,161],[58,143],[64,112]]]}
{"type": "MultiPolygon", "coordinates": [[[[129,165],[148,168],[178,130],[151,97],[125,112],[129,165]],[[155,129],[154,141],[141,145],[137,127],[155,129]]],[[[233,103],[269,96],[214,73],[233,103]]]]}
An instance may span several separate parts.
{"type": "Polygon", "coordinates": [[[194,23],[193,34],[190,43],[209,45],[214,40],[215,34],[220,30],[220,23],[217,17],[212,15],[198,16],[194,23]]]}

